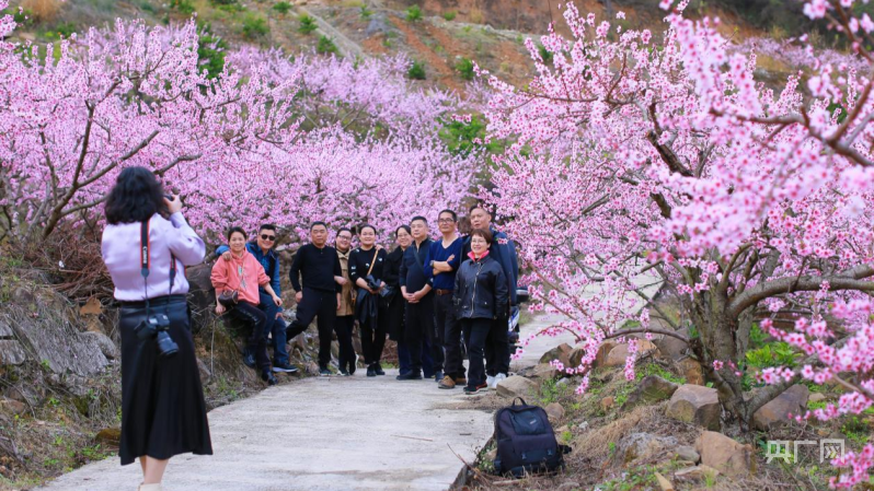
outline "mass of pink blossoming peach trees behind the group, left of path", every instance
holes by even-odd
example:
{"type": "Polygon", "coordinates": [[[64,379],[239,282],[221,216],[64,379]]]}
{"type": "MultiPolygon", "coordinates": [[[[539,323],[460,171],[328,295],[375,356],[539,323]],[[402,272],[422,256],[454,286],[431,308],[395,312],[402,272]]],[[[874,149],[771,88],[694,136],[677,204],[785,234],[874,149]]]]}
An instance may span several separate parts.
{"type": "MultiPolygon", "coordinates": [[[[4,16],[0,39],[14,27],[4,16]]],[[[216,242],[230,225],[268,221],[295,238],[311,220],[391,230],[468,190],[476,157],[451,155],[422,129],[457,98],[418,91],[398,68],[404,60],[290,62],[243,49],[208,78],[198,43],[193,21],[92,28],[62,40],[57,59],[3,43],[0,236],[25,242],[99,220],[130,165],[153,168],[216,242]],[[355,83],[344,91],[337,79],[355,83]],[[348,113],[327,117],[329,107],[348,113]],[[353,132],[355,118],[384,130],[353,132]]]]}

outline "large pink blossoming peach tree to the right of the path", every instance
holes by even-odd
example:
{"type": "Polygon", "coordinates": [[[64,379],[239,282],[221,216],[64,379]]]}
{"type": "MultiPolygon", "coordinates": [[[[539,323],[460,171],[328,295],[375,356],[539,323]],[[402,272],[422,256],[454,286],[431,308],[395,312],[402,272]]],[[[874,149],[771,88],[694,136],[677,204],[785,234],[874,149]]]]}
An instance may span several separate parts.
{"type": "MultiPolygon", "coordinates": [[[[631,344],[633,378],[632,335],[662,335],[688,344],[743,429],[800,381],[846,390],[802,418],[872,406],[874,23],[852,3],[817,0],[806,12],[843,33],[855,62],[823,63],[778,89],[755,80],[755,52],[729,50],[718,19],[687,19],[687,2],[670,0],[658,36],[568,2],[572,36],[541,38],[551,62],[528,40],[537,77],[527,87],[488,77],[491,137],[516,143],[483,194],[522,244],[532,308],[563,314],[539,335],[570,331],[586,350],[565,367],[583,375],[578,391],[606,339],[631,344]],[[679,300],[695,336],[677,329],[653,283],[679,300]],[[790,328],[775,327],[777,313],[793,316],[790,328]],[[762,318],[803,361],[762,371],[766,386],[745,393],[762,318]]],[[[850,468],[832,486],[852,487],[874,445],[832,463],[850,468]]]]}

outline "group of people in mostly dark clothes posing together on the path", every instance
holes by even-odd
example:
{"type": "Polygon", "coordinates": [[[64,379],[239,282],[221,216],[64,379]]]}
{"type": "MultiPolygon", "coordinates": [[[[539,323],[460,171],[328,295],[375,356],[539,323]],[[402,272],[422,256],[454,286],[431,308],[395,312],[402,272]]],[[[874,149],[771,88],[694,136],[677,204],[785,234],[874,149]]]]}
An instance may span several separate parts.
{"type": "Polygon", "coordinates": [[[424,375],[440,388],[463,385],[468,394],[494,387],[509,369],[507,326],[516,304],[518,262],[513,243],[491,226],[483,207],[470,209],[470,221],[473,230],[461,237],[456,212],[441,211],[441,237],[433,241],[427,219],[414,217],[394,231],[391,253],[377,244],[372,225],[357,227],[359,245],[352,248],[353,230],[338,229],[331,246],[327,225],[311,223],[310,243],[297,250],[289,271],[297,302],[289,325],[283,318],[279,258],[273,250],[276,226],[262,225],[252,242],[232,227],[228,246],[217,249],[222,259],[212,268],[216,312],[229,311],[251,326],[244,360],[271,385],[276,384],[274,372],[297,371],[288,364],[286,343],[314,319],[323,376],[331,375],[333,334],[340,344],[340,375],[355,373],[358,356],[352,340],[357,320],[367,376],[386,374],[381,360],[390,338],[398,342],[398,379],[424,375]],[[229,292],[239,296],[230,309],[220,301],[229,292]]]}

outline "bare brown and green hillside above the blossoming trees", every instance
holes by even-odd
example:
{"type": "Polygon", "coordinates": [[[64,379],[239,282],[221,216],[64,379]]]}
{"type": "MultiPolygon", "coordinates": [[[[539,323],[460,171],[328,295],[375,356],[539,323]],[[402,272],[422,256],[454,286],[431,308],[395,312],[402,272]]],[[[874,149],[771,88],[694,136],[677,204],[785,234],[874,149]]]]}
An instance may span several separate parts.
{"type": "MultiPolygon", "coordinates": [[[[598,20],[628,16],[625,28],[662,31],[664,11],[652,0],[574,0],[598,20]]],[[[467,59],[510,83],[530,80],[533,63],[526,37],[545,33],[550,22],[564,32],[557,0],[22,0],[16,40],[54,43],[116,17],[147,23],[185,22],[193,15],[205,30],[233,48],[243,44],[280,47],[288,54],[337,52],[363,57],[405,55],[424,69],[424,84],[462,90],[470,79],[467,59]]],[[[691,15],[718,15],[735,40],[764,35],[731,9],[733,0],[690,7],[691,15]],[[725,5],[729,8],[726,9],[725,5]]],[[[419,73],[421,78],[422,74],[419,73]]]]}

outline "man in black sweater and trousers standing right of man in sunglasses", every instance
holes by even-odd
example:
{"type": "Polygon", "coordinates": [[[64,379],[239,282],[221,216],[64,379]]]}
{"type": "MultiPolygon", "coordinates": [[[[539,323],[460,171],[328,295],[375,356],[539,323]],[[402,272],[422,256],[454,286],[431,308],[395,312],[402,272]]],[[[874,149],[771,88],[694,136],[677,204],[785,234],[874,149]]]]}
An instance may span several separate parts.
{"type": "Polygon", "coordinates": [[[318,317],[319,328],[319,375],[329,376],[331,371],[331,331],[341,306],[341,294],[346,279],[340,266],[337,250],[327,245],[327,225],[313,222],[310,225],[310,244],[301,246],[288,276],[295,289],[298,303],[295,322],[288,326],[287,339],[303,332],[318,317]],[[303,282],[301,287],[300,278],[303,282]]]}

